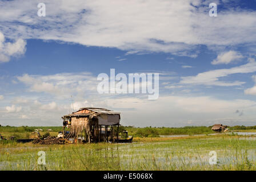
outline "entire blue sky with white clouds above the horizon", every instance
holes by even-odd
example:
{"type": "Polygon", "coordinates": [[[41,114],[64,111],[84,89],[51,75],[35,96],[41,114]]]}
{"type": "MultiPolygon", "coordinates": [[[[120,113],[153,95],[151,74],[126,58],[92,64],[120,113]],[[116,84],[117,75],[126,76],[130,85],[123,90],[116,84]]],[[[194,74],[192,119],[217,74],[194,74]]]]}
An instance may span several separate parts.
{"type": "Polygon", "coordinates": [[[61,125],[71,95],[123,125],[255,125],[256,1],[38,3],[0,1],[1,125],[61,125]],[[159,98],[99,94],[111,68],[159,73],[159,98]]]}

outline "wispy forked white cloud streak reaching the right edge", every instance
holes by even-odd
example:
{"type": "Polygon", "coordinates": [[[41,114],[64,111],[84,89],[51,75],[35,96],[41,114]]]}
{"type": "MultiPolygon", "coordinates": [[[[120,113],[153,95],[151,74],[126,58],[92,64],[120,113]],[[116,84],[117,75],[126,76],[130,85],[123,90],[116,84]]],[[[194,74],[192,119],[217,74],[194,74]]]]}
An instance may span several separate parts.
{"type": "Polygon", "coordinates": [[[245,82],[234,81],[226,82],[219,81],[220,77],[226,77],[235,73],[253,73],[256,72],[256,62],[253,58],[249,58],[249,63],[241,65],[239,67],[233,67],[230,69],[215,69],[203,73],[198,73],[197,76],[181,77],[180,84],[194,84],[194,85],[216,85],[216,86],[239,86],[245,82]]]}

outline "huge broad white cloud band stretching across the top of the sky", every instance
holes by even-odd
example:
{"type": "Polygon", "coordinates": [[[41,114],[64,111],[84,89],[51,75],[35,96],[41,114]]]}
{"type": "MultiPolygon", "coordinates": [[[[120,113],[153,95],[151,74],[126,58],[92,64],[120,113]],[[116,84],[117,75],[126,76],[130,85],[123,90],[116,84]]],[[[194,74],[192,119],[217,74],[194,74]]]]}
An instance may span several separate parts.
{"type": "Polygon", "coordinates": [[[3,34],[15,40],[61,40],[115,47],[131,53],[170,52],[190,57],[197,56],[197,45],[233,46],[256,40],[255,11],[227,9],[219,12],[218,18],[212,18],[205,1],[44,3],[46,17],[35,15],[37,2],[33,0],[2,2],[0,28],[3,34]],[[198,6],[193,6],[195,4],[198,6]]]}

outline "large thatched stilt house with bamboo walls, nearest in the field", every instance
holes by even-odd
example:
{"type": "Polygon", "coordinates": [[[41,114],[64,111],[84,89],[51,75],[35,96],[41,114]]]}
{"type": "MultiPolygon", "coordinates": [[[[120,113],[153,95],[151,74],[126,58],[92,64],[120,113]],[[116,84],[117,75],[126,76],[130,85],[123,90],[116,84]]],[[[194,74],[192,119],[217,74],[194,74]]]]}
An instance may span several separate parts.
{"type": "Polygon", "coordinates": [[[66,126],[70,127],[70,136],[75,138],[75,142],[83,138],[83,142],[89,143],[118,141],[120,113],[103,108],[84,107],[72,114],[64,115],[62,119],[63,133],[66,126]],[[113,126],[117,126],[116,132],[113,126]]]}

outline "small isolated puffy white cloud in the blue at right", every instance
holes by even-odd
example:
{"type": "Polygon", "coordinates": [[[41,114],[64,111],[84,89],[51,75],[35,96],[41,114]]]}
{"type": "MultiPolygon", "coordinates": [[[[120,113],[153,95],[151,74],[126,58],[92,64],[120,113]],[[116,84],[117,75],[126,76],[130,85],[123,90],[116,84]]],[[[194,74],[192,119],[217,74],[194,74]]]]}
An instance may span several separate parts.
{"type": "Polygon", "coordinates": [[[239,61],[239,59],[242,58],[243,56],[241,53],[235,51],[222,52],[217,56],[217,59],[211,62],[211,64],[229,64],[233,63],[234,61],[239,61]]]}

